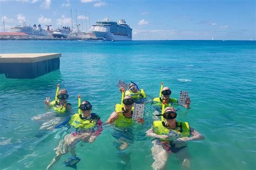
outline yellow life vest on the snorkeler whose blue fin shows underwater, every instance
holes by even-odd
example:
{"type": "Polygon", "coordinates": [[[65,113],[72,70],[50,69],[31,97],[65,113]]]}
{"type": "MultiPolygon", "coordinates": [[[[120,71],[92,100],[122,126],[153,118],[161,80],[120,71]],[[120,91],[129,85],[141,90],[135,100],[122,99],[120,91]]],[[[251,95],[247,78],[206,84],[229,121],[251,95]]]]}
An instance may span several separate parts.
{"type": "Polygon", "coordinates": [[[99,116],[96,114],[91,114],[90,119],[82,119],[81,114],[75,114],[71,116],[69,124],[75,128],[82,129],[93,129],[99,119],[99,116]]]}

